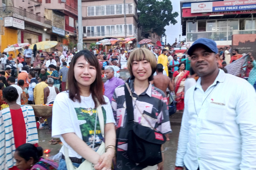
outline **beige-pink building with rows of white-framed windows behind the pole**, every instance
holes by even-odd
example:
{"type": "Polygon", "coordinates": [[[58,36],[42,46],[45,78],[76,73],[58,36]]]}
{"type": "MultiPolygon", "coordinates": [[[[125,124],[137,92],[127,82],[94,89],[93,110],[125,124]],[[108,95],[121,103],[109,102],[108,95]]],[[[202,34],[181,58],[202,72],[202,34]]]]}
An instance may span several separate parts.
{"type": "Polygon", "coordinates": [[[124,38],[124,9],[126,10],[127,37],[137,37],[137,0],[82,0],[83,42],[90,43],[105,37],[124,38]]]}

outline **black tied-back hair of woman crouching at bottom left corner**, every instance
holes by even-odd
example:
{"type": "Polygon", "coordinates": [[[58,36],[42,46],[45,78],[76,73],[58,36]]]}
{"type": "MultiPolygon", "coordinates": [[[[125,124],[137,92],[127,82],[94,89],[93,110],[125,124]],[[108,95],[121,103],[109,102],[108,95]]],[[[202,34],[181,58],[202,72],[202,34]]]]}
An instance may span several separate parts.
{"type": "Polygon", "coordinates": [[[37,163],[39,158],[43,156],[43,148],[40,146],[35,147],[31,143],[20,145],[18,148],[16,148],[16,152],[18,152],[18,155],[24,158],[26,161],[28,161],[31,157],[34,158],[34,163],[37,163]]]}

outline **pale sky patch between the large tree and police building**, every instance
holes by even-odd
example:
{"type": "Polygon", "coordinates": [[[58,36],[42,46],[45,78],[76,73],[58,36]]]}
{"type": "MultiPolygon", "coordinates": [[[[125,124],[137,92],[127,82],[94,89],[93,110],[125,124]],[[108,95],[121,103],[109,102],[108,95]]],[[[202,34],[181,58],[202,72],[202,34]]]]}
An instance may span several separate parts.
{"type": "MultiPolygon", "coordinates": [[[[175,42],[175,38],[179,41],[179,35],[182,35],[181,30],[181,18],[180,18],[180,1],[181,0],[171,0],[173,12],[178,12],[179,16],[176,18],[177,22],[175,25],[170,24],[166,26],[165,34],[166,34],[166,43],[173,44],[175,42]]],[[[186,36],[181,36],[180,41],[184,40],[186,36]]],[[[163,37],[163,42],[165,42],[165,37],[163,37]]]]}

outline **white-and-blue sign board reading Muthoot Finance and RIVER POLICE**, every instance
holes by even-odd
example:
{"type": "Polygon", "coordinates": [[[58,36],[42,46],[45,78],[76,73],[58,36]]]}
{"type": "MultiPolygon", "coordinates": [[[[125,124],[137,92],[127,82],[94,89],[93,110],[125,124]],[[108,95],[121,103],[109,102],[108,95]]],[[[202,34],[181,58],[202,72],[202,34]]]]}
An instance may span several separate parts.
{"type": "Polygon", "coordinates": [[[256,0],[191,3],[191,13],[255,10],[256,0]]]}

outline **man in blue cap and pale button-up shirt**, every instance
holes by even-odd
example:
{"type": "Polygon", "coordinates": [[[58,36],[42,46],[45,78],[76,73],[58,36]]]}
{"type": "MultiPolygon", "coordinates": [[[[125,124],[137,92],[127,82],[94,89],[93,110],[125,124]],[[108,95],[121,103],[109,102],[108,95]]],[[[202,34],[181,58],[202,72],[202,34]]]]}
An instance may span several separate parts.
{"type": "Polygon", "coordinates": [[[186,92],[175,169],[256,169],[255,89],[218,69],[217,53],[204,38],[188,50],[200,78],[186,92]]]}

